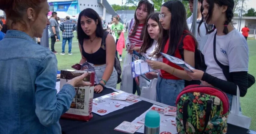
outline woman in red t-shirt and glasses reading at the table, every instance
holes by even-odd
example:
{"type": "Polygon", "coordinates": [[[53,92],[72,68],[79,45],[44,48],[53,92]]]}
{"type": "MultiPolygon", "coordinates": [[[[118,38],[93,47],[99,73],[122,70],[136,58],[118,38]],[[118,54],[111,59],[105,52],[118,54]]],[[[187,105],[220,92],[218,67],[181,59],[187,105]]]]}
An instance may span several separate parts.
{"type": "MultiPolygon", "coordinates": [[[[160,52],[181,59],[178,45],[183,36],[183,55],[188,64],[194,66],[194,52],[197,46],[196,39],[191,35],[186,22],[186,11],[180,1],[168,1],[161,7],[159,15],[163,30],[160,36],[155,55],[161,56],[160,52]]],[[[184,80],[191,80],[181,67],[163,58],[163,62],[147,61],[153,69],[161,69],[156,86],[157,101],[175,106],[176,97],[185,86],[184,80]]]]}

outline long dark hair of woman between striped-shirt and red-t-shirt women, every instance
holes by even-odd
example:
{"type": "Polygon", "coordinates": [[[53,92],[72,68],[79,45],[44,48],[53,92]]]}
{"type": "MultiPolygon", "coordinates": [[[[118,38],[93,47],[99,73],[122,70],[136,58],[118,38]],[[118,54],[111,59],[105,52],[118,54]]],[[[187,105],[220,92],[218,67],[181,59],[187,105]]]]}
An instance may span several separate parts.
{"type": "MultiPolygon", "coordinates": [[[[161,23],[159,21],[159,15],[160,13],[159,12],[156,12],[156,13],[151,13],[148,18],[147,18],[147,21],[146,21],[146,30],[145,30],[145,34],[144,34],[144,37],[143,37],[143,44],[140,48],[140,53],[146,53],[146,51],[148,50],[148,48],[150,48],[154,42],[154,39],[151,39],[151,37],[149,36],[149,33],[148,33],[148,20],[149,19],[152,19],[154,21],[156,21],[158,23],[158,26],[159,26],[159,33],[161,33],[161,23]]],[[[158,38],[158,41],[159,41],[159,38],[158,38]]]]}

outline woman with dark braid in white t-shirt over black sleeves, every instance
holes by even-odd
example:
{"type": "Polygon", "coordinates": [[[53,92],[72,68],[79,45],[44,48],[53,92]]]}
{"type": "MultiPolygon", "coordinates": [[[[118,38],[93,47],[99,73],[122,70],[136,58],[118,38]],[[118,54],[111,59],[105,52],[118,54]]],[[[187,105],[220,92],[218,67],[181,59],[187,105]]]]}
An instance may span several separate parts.
{"type": "Polygon", "coordinates": [[[215,86],[224,91],[229,98],[231,108],[232,95],[236,95],[237,86],[241,97],[247,92],[248,45],[243,35],[230,23],[234,16],[234,1],[215,0],[214,2],[204,0],[201,8],[206,23],[215,26],[213,30],[208,31],[209,37],[202,51],[207,65],[206,72],[194,70],[194,73],[187,73],[192,79],[201,80],[203,85],[215,86]],[[227,75],[224,75],[222,68],[215,61],[214,40],[216,40],[216,58],[222,65],[229,66],[224,72],[230,77],[226,78],[227,75]]]}

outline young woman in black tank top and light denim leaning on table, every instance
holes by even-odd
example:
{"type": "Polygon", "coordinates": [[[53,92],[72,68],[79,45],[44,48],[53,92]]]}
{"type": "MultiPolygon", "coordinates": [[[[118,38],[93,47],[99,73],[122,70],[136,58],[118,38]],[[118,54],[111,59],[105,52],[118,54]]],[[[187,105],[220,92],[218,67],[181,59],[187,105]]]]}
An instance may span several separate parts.
{"type": "Polygon", "coordinates": [[[93,64],[96,75],[100,80],[94,86],[94,91],[100,93],[104,85],[116,88],[117,72],[114,69],[116,44],[114,37],[108,34],[106,48],[103,49],[102,37],[104,34],[101,19],[93,9],[84,9],[78,17],[77,37],[81,52],[80,64],[88,62],[93,64]]]}

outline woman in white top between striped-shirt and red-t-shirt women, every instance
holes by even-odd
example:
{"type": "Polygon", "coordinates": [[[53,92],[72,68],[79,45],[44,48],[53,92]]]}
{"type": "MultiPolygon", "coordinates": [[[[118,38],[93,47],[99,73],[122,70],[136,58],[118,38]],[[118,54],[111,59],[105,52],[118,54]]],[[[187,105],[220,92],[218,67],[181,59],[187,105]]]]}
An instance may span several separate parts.
{"type": "MultiPolygon", "coordinates": [[[[157,60],[153,53],[158,46],[158,39],[161,30],[161,23],[159,22],[159,12],[151,13],[146,20],[146,30],[144,34],[143,44],[140,48],[140,54],[144,55],[146,58],[151,60],[157,60]]],[[[148,72],[145,74],[148,79],[154,79],[158,77],[155,72],[148,72]]],[[[139,87],[148,87],[149,82],[143,77],[139,77],[139,87]]]]}

